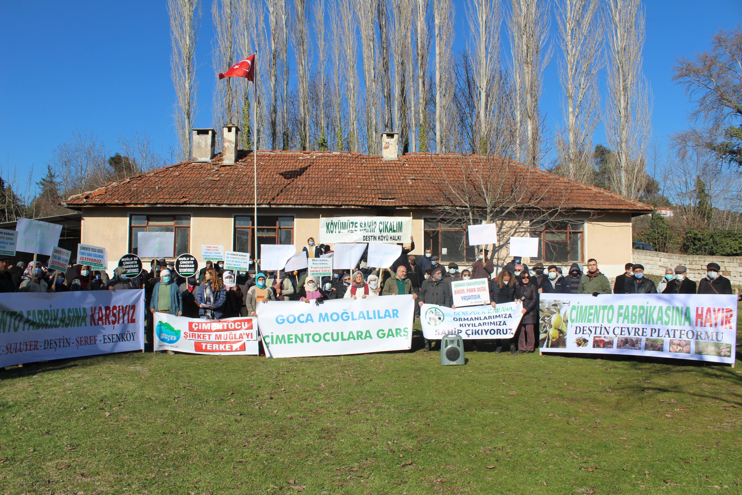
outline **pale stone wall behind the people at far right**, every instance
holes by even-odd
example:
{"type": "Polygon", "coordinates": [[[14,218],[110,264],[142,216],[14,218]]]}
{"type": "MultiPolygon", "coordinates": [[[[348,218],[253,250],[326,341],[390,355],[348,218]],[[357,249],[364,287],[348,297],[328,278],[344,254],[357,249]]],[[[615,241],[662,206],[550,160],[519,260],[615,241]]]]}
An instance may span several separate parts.
{"type": "Polygon", "coordinates": [[[714,261],[719,263],[721,275],[729,278],[732,285],[742,285],[742,257],[740,256],[671,255],[667,252],[633,249],[631,261],[643,264],[644,271],[650,275],[665,275],[665,269],[668,267],[687,266],[688,277],[696,282],[706,276],[706,265],[714,261]]]}

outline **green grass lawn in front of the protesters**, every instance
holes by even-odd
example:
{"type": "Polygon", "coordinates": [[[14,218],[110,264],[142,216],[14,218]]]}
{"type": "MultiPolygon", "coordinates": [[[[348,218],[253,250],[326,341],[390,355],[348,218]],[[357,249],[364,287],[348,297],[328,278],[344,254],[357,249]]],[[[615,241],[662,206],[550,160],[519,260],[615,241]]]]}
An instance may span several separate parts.
{"type": "Polygon", "coordinates": [[[126,353],[7,368],[1,492],[742,491],[742,367],[489,352],[441,367],[419,333],[414,343],[413,353],[126,353]]]}

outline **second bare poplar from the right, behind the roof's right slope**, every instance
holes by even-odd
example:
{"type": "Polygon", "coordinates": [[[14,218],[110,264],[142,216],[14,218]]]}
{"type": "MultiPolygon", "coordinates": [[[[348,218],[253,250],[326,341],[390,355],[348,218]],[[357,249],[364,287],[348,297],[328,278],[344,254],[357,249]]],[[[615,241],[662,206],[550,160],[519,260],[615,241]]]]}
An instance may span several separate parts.
{"type": "Polygon", "coordinates": [[[597,75],[602,30],[597,0],[562,0],[557,4],[559,45],[564,59],[559,80],[565,100],[562,111],[565,137],[557,140],[559,160],[570,179],[592,183],[592,135],[599,118],[597,75]]]}

